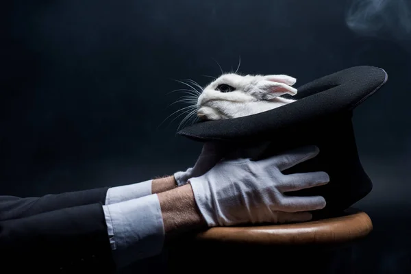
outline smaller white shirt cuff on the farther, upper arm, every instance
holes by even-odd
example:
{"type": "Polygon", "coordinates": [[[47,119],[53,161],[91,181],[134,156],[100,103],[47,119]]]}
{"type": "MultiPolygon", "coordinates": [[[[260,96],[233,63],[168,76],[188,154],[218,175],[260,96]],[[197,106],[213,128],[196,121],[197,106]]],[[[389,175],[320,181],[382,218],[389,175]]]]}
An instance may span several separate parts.
{"type": "Polygon", "coordinates": [[[129,184],[125,186],[115,186],[107,190],[105,197],[105,205],[112,203],[120,203],[140,197],[151,195],[151,184],[153,180],[140,182],[136,184],[129,184]]]}

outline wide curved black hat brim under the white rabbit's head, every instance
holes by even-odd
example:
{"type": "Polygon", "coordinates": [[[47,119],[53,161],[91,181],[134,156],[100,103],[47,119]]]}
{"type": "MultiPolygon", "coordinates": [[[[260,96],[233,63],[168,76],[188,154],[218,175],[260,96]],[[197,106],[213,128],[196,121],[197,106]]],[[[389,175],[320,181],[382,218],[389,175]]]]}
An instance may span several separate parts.
{"type": "Polygon", "coordinates": [[[204,121],[178,132],[192,140],[270,138],[280,129],[351,112],[387,81],[384,69],[354,66],[297,88],[297,101],[266,112],[235,119],[204,121]]]}

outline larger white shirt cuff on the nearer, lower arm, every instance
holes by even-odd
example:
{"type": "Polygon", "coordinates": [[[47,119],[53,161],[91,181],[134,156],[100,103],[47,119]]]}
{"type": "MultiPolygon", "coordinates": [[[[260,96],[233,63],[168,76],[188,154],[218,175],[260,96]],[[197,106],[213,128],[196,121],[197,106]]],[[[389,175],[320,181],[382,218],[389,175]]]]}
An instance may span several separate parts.
{"type": "Polygon", "coordinates": [[[105,205],[103,211],[119,269],[161,253],[164,223],[156,194],[105,205]]]}

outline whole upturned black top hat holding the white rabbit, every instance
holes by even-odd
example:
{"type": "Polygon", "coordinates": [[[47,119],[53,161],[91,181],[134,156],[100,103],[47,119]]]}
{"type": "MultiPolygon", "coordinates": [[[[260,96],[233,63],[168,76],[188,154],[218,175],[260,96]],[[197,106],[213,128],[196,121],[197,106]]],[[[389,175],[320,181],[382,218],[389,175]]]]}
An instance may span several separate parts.
{"type": "Polygon", "coordinates": [[[358,158],[351,116],[386,81],[383,69],[352,67],[297,88],[292,97],[297,101],[288,105],[235,119],[195,123],[178,134],[201,142],[273,141],[263,158],[301,145],[317,145],[316,158],[284,173],[327,172],[329,184],[292,195],[325,197],[327,206],[313,212],[314,218],[339,214],[371,192],[371,179],[358,158]]]}

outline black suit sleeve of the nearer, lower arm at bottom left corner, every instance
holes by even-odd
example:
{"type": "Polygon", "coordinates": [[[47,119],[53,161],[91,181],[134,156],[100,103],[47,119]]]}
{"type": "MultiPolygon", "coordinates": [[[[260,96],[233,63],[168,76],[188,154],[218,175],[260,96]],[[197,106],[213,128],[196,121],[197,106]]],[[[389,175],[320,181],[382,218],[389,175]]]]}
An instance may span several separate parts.
{"type": "Polygon", "coordinates": [[[1,268],[14,273],[115,269],[101,203],[0,221],[0,254],[1,268]]]}

